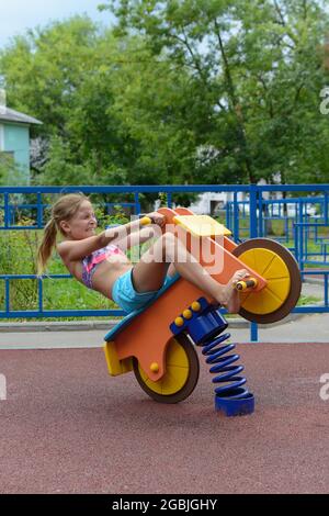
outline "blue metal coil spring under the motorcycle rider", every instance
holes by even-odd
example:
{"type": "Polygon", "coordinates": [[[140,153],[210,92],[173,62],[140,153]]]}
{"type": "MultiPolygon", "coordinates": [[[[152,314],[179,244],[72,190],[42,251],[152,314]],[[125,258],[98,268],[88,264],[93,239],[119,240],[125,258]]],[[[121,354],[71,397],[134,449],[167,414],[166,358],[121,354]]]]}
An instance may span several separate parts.
{"type": "Polygon", "coordinates": [[[217,374],[213,378],[213,383],[225,383],[225,385],[217,386],[215,389],[215,394],[217,397],[223,399],[247,399],[250,396],[250,393],[247,389],[242,388],[247,382],[246,378],[240,377],[240,372],[243,371],[243,366],[232,366],[240,356],[229,355],[232,349],[235,349],[235,344],[226,344],[220,346],[222,343],[227,340],[230,337],[230,334],[224,334],[215,339],[208,339],[204,343],[201,343],[203,347],[202,354],[205,355],[206,363],[213,364],[209,369],[209,372],[217,374]]]}

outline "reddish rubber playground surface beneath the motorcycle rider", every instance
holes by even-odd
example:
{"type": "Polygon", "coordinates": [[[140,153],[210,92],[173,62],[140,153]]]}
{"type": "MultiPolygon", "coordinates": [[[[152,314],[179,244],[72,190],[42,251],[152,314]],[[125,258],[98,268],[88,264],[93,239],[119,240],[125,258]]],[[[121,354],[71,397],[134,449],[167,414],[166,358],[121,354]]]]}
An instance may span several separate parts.
{"type": "Polygon", "coordinates": [[[327,493],[329,345],[237,349],[256,412],[229,418],[202,357],[193,394],[161,405],[102,349],[1,350],[0,492],[327,493]]]}

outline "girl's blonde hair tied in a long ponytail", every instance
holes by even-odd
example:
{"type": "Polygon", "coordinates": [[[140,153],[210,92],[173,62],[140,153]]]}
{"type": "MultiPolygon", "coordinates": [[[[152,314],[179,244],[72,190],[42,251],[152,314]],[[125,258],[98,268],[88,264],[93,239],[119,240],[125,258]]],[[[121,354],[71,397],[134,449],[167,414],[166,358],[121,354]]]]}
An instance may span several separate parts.
{"type": "Polygon", "coordinates": [[[65,232],[60,227],[61,221],[69,221],[79,210],[83,201],[89,201],[89,198],[83,193],[68,193],[59,198],[53,209],[50,221],[46,224],[44,236],[37,250],[37,274],[42,276],[48,259],[52,256],[53,247],[56,244],[57,232],[59,231],[64,236],[65,232]]]}

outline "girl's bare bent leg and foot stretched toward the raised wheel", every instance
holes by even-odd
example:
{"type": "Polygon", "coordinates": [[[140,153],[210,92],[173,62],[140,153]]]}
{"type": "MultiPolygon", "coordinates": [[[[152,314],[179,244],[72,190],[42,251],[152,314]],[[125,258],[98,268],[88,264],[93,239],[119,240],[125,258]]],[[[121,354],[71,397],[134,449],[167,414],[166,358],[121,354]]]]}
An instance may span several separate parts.
{"type": "Polygon", "coordinates": [[[134,267],[133,280],[137,292],[159,290],[170,263],[182,278],[227,306],[229,312],[239,310],[239,295],[234,283],[247,276],[247,271],[237,271],[226,285],[218,283],[171,233],[164,233],[134,267]]]}

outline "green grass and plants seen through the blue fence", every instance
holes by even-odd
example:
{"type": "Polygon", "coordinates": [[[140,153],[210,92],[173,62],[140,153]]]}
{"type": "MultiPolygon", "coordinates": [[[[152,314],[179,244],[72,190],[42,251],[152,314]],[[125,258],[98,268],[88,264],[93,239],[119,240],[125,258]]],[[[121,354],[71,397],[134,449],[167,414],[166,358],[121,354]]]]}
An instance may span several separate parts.
{"type": "MultiPolygon", "coordinates": [[[[222,221],[225,222],[225,221],[222,221]]],[[[248,237],[247,218],[240,221],[240,227],[248,237]]],[[[282,235],[283,222],[272,222],[273,237],[282,235]]],[[[321,228],[326,229],[326,228],[321,228]]],[[[42,233],[33,231],[10,232],[9,235],[0,235],[0,263],[2,263],[1,273],[35,273],[35,251],[42,233]]],[[[293,247],[294,242],[288,240],[282,243],[285,247],[293,247]]],[[[309,242],[310,253],[320,250],[320,246],[314,242],[309,242]]],[[[307,266],[308,268],[317,267],[316,265],[307,266]]],[[[329,267],[329,263],[328,263],[329,267]]],[[[58,256],[55,256],[48,268],[50,274],[67,274],[58,256]]],[[[4,281],[0,283],[0,311],[4,311],[4,281]],[[2,285],[1,285],[2,283],[2,285]]],[[[11,284],[11,310],[37,310],[37,281],[36,280],[13,280],[11,284]]],[[[111,300],[102,294],[87,289],[75,279],[50,279],[45,278],[43,281],[43,302],[45,310],[115,310],[117,306],[111,300]]],[[[320,300],[315,296],[300,296],[298,306],[314,304],[320,300]]],[[[112,318],[113,316],[111,316],[112,318]]],[[[114,317],[113,317],[114,318],[114,317]]],[[[46,317],[43,321],[58,321],[57,317],[46,317]]],[[[1,322],[38,322],[41,318],[2,318],[1,322]]],[[[100,321],[100,316],[75,316],[60,317],[61,322],[68,321],[100,321]]]]}

